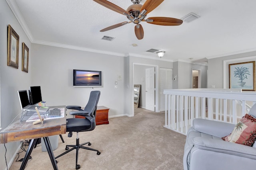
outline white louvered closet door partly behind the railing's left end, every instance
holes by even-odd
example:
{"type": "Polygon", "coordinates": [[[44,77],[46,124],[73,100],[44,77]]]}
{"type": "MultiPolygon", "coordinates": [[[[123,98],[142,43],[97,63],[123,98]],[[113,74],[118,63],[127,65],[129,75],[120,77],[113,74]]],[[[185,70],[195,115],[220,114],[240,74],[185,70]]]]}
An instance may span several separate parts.
{"type": "Polygon", "coordinates": [[[172,89],[172,69],[160,68],[159,69],[159,106],[160,111],[165,110],[165,95],[164,90],[172,89]]]}

